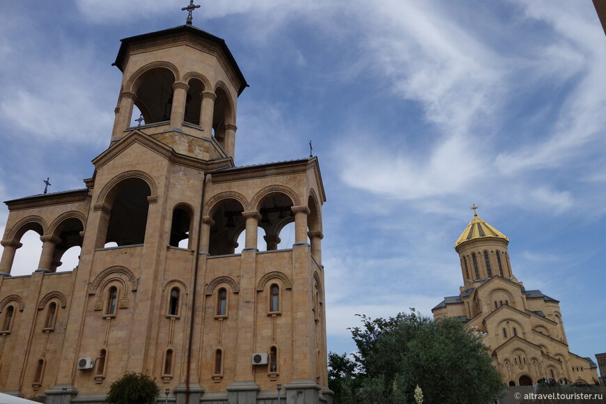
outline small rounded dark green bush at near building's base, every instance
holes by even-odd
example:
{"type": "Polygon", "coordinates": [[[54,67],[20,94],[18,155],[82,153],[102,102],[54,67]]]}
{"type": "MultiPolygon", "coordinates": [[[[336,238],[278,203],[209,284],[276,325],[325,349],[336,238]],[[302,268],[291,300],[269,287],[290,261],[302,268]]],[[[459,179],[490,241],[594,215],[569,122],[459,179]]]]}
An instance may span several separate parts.
{"type": "Polygon", "coordinates": [[[106,403],[112,404],[154,404],[160,391],[155,381],[143,373],[126,372],[111,383],[106,403]]]}

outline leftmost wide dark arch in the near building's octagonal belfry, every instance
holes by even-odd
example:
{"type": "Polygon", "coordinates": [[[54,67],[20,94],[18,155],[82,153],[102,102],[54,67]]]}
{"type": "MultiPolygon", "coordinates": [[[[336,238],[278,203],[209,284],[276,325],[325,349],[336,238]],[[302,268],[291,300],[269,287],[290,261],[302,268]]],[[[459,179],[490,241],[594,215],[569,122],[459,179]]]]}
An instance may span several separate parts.
{"type": "Polygon", "coordinates": [[[134,105],[143,116],[144,124],[170,121],[175,82],[173,72],[166,68],[151,69],[143,73],[137,82],[139,86],[134,105]]]}

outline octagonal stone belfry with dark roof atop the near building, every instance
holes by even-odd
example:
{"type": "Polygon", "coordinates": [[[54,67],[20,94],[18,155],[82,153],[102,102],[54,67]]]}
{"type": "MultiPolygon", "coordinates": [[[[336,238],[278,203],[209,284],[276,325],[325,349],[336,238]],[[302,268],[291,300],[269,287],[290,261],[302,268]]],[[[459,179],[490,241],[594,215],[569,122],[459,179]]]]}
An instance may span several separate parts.
{"type": "Polygon", "coordinates": [[[248,84],[225,41],[187,24],[121,42],[111,142],[137,127],[178,153],[233,159],[236,105],[248,84]]]}

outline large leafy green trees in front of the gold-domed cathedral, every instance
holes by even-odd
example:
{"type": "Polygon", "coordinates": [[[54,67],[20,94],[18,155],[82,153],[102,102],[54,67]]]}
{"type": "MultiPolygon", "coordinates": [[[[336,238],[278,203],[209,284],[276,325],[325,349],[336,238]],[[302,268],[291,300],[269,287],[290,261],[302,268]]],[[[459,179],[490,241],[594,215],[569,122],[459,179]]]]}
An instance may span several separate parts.
{"type": "Polygon", "coordinates": [[[362,326],[351,329],[354,359],[329,357],[329,387],[338,404],[414,403],[417,385],[426,403],[485,404],[502,388],[488,348],[454,318],[435,322],[414,309],[360,318],[362,326]]]}

